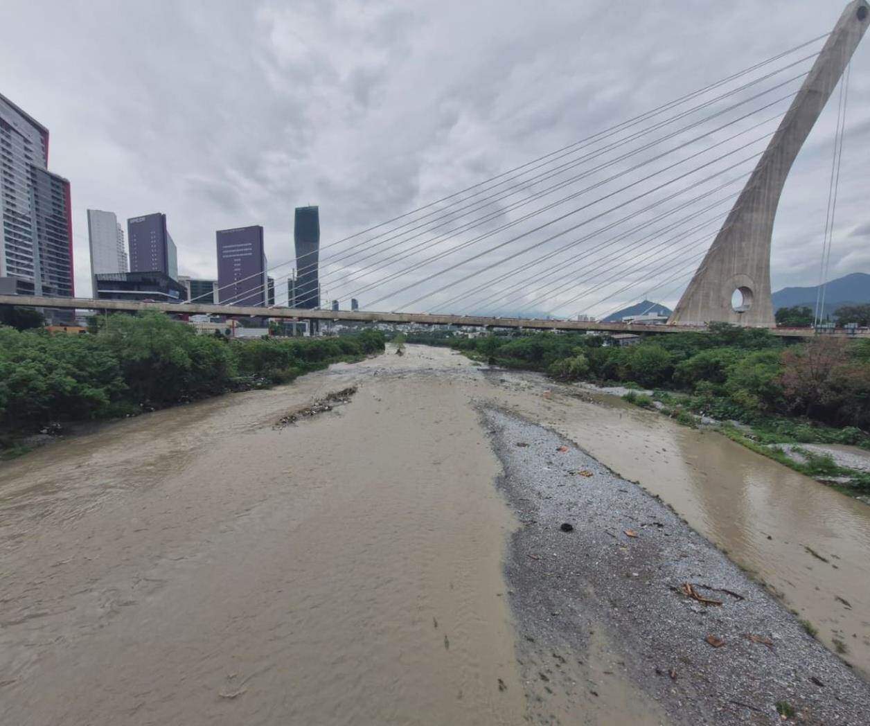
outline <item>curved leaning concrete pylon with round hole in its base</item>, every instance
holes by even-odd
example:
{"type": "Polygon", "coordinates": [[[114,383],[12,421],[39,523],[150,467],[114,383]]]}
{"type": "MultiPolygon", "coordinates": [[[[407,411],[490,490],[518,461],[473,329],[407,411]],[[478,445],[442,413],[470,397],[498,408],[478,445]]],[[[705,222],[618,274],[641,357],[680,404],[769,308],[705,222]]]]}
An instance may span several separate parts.
{"type": "Polygon", "coordinates": [[[870,25],[867,0],[846,6],[668,323],[773,326],[770,246],[782,187],[800,147],[870,25]],[[733,293],[743,293],[734,308],[733,293]]]}

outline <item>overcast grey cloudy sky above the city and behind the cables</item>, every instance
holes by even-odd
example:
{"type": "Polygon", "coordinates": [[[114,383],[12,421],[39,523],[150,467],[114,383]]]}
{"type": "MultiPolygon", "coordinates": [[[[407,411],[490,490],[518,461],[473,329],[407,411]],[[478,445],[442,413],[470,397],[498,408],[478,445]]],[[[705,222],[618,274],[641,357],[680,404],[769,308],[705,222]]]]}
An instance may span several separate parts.
{"type": "MultiPolygon", "coordinates": [[[[596,268],[592,262],[604,252],[589,252],[585,261],[572,266],[579,252],[604,245],[627,229],[597,232],[617,218],[613,216],[617,212],[608,210],[624,203],[631,192],[614,195],[606,205],[592,205],[542,232],[529,230],[576,210],[587,198],[594,200],[592,192],[539,214],[525,226],[518,223],[509,231],[498,230],[594,182],[601,182],[604,191],[628,185],[642,174],[632,176],[626,170],[651,159],[655,150],[618,159],[582,181],[572,182],[564,172],[553,177],[566,180],[562,191],[513,211],[510,205],[552,184],[532,185],[530,180],[512,197],[495,198],[491,206],[480,207],[477,217],[457,221],[493,212],[465,236],[448,234],[452,227],[442,225],[438,232],[423,228],[428,237],[418,235],[403,243],[398,234],[414,225],[391,230],[425,213],[418,212],[348,242],[338,240],[825,33],[844,5],[831,0],[5,0],[0,93],[49,127],[50,168],[70,179],[80,294],[90,291],[88,208],[116,212],[122,220],[165,212],[178,246],[179,272],[213,277],[215,230],[264,225],[270,264],[283,263],[292,256],[293,208],[316,204],[321,245],[332,245],[323,252],[325,258],[333,256],[333,266],[324,270],[327,297],[345,299],[356,292],[364,307],[371,302],[376,309],[391,309],[433,292],[412,307],[483,309],[481,295],[488,294],[492,309],[503,312],[525,306],[537,313],[604,314],[609,307],[635,302],[647,292],[652,299],[673,304],[687,281],[681,270],[688,263],[691,271],[692,256],[702,253],[702,245],[710,239],[686,252],[668,247],[672,257],[661,257],[653,245],[666,238],[657,237],[656,228],[650,227],[649,240],[638,232],[614,241],[615,247],[601,248],[624,250],[621,258],[612,255],[596,268]],[[625,176],[607,181],[614,173],[625,176]],[[599,209],[610,216],[592,221],[599,209]],[[550,234],[584,219],[590,221],[576,232],[546,241],[550,234]],[[492,234],[470,241],[485,232],[492,234]],[[509,241],[519,234],[525,237],[509,241]],[[590,239],[545,265],[499,282],[499,275],[585,234],[590,239]],[[502,242],[507,244],[486,252],[502,242]],[[522,252],[532,244],[539,246],[522,252]],[[342,258],[342,251],[351,245],[358,251],[356,256],[344,252],[342,258]],[[650,251],[646,262],[639,257],[639,251],[645,250],[650,251]],[[361,258],[359,251],[370,256],[361,258]],[[478,252],[481,256],[472,259],[478,252]],[[490,268],[515,252],[519,257],[490,268]],[[435,255],[443,257],[425,264],[435,255]],[[653,269],[657,259],[662,260],[660,270],[653,269]],[[457,263],[464,264],[448,269],[457,263]],[[417,269],[408,269],[413,266],[417,269]],[[438,275],[429,279],[435,272],[438,275]],[[460,281],[472,273],[473,277],[460,281]],[[545,273],[553,281],[550,291],[537,284],[545,273]],[[391,281],[380,283],[390,275],[391,281]],[[622,290],[626,279],[632,285],[622,290]],[[436,292],[451,283],[444,292],[436,292]],[[409,289],[391,295],[402,287],[409,289]],[[588,290],[592,292],[584,295],[588,290]],[[464,292],[469,292],[468,297],[455,299],[464,292]]],[[[819,48],[820,44],[809,46],[766,71],[778,70],[819,48]]],[[[712,157],[772,132],[775,120],[773,125],[753,124],[785,110],[787,95],[800,84],[800,77],[791,85],[785,84],[786,79],[808,70],[809,63],[812,58],[766,85],[722,101],[716,108],[784,83],[778,91],[730,111],[730,116],[701,125],[700,129],[714,130],[723,121],[785,99],[745,121],[714,130],[697,148],[720,141],[722,145],[710,151],[712,157]],[[746,133],[728,140],[738,131],[746,133]]],[[[853,58],[849,85],[831,277],[870,272],[868,71],[870,40],[866,39],[853,58]]],[[[813,285],[818,279],[836,100],[835,94],[786,185],[774,232],[774,290],[813,285]]],[[[680,123],[694,118],[700,116],[680,123]]],[[[659,136],[671,128],[678,126],[667,127],[659,136]]],[[[695,146],[677,148],[697,136],[698,129],[681,132],[663,144],[662,150],[674,150],[668,163],[686,159],[686,168],[703,163],[707,157],[687,159],[695,146]]],[[[758,143],[747,147],[743,156],[735,152],[718,167],[708,167],[706,171],[721,171],[724,176],[707,187],[695,187],[697,177],[668,187],[668,193],[686,192],[670,204],[688,199],[693,187],[710,189],[728,180],[736,180],[737,186],[707,198],[707,203],[738,191],[740,175],[751,165],[722,170],[762,151],[764,140],[758,143]]],[[[637,144],[626,142],[612,153],[636,148],[637,144]]],[[[606,158],[596,158],[595,164],[606,158]]],[[[645,168],[665,174],[666,161],[652,161],[645,168]]],[[[578,169],[572,168],[570,174],[578,174],[578,169]]],[[[647,190],[652,184],[637,188],[647,190]]],[[[646,203],[664,195],[657,192],[646,203]]],[[[686,207],[673,218],[699,205],[686,207]]],[[[617,216],[639,212],[641,206],[620,207],[617,216]]],[[[452,212],[456,208],[444,204],[427,207],[426,212],[458,215],[452,212]]],[[[654,216],[666,208],[643,213],[654,216]]],[[[710,214],[726,208],[717,207],[710,214]]],[[[428,219],[436,218],[441,217],[428,219]]],[[[709,215],[697,221],[706,218],[709,215]]],[[[715,226],[705,229],[714,232],[715,226]]],[[[275,276],[280,278],[290,269],[284,266],[275,276]]]]}

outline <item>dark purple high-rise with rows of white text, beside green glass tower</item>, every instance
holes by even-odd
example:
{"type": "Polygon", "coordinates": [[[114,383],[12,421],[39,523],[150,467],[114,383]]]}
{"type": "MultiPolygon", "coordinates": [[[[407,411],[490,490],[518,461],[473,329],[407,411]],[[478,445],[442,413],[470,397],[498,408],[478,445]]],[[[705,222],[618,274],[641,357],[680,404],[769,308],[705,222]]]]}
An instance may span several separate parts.
{"type": "Polygon", "coordinates": [[[218,230],[218,302],[265,306],[268,299],[263,227],[218,230]]]}

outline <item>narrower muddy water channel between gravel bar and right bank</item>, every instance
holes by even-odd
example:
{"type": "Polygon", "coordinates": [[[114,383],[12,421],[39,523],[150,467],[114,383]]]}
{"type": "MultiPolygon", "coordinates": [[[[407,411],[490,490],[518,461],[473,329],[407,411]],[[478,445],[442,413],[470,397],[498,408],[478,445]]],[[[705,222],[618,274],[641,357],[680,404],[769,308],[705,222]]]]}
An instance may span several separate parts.
{"type": "Polygon", "coordinates": [[[817,629],[821,642],[832,650],[842,643],[843,659],[870,676],[867,504],[724,436],[613,396],[527,373],[503,372],[495,380],[515,411],[659,495],[817,629]]]}

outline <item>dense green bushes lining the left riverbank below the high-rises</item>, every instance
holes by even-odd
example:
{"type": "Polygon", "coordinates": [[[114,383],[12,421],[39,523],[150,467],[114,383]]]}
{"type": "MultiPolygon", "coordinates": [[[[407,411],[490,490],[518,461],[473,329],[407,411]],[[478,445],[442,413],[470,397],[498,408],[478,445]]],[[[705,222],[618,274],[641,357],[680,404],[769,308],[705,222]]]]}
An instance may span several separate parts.
{"type": "Polygon", "coordinates": [[[162,313],[111,315],[97,335],[0,326],[0,457],[23,453],[30,434],[58,433],[73,421],[288,383],[383,350],[384,337],[376,331],[227,340],[197,335],[162,313]]]}

